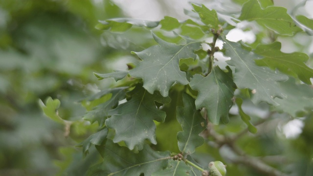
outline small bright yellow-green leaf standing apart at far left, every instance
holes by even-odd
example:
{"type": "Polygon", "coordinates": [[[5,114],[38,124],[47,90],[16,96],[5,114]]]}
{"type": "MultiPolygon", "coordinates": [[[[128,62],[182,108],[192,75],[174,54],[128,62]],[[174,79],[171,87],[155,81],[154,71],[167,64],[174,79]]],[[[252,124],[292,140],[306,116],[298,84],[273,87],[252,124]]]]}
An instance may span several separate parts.
{"type": "Polygon", "coordinates": [[[45,101],[45,104],[42,100],[39,100],[39,105],[44,110],[46,116],[50,117],[55,122],[61,124],[65,123],[65,120],[58,115],[58,108],[61,105],[60,100],[58,99],[53,100],[51,97],[48,97],[47,100],[45,101]]]}

